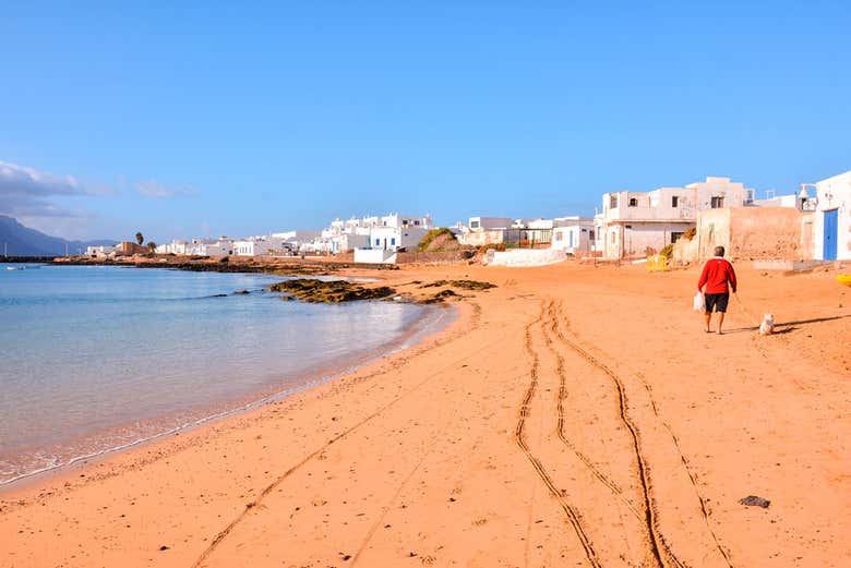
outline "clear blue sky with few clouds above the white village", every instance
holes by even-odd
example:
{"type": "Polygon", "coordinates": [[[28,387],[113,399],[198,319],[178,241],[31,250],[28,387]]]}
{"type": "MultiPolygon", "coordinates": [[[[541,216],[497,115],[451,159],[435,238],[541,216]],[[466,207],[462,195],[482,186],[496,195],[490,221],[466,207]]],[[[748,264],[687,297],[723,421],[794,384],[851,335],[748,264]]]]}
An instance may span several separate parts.
{"type": "Polygon", "coordinates": [[[851,3],[637,4],[4,2],[0,214],[164,242],[851,169],[851,3]]]}

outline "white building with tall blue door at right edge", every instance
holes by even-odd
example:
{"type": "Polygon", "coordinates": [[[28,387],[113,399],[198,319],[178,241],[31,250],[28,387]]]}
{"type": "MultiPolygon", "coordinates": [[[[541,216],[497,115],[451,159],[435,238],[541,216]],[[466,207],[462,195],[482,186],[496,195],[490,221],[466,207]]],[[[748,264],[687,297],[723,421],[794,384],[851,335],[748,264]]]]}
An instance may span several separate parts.
{"type": "Polygon", "coordinates": [[[814,255],[819,261],[851,259],[851,171],[815,183],[814,255]]]}

